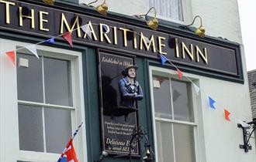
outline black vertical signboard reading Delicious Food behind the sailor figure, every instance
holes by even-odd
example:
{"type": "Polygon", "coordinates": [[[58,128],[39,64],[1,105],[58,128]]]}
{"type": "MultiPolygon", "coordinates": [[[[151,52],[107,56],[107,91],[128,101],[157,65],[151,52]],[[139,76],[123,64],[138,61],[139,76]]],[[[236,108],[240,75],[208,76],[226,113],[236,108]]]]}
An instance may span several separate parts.
{"type": "Polygon", "coordinates": [[[119,80],[122,71],[133,65],[133,58],[99,52],[99,79],[101,89],[102,148],[109,154],[138,155],[139,146],[130,150],[131,134],[137,123],[136,109],[120,106],[119,80]]]}

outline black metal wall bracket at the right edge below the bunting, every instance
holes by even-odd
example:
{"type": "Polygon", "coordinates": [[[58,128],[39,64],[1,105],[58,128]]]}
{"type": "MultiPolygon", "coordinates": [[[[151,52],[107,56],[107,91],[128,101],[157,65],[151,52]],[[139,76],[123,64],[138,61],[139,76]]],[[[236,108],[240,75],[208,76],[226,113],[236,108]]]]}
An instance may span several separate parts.
{"type": "Polygon", "coordinates": [[[244,136],[244,144],[240,144],[239,147],[240,147],[240,149],[244,149],[244,152],[246,152],[246,153],[249,150],[251,150],[251,144],[249,143],[249,140],[251,138],[252,133],[254,133],[254,130],[256,128],[256,118],[254,118],[251,122],[248,122],[247,124],[249,124],[250,127],[244,127],[240,123],[237,124],[237,127],[240,127],[243,129],[243,136],[244,136]]]}

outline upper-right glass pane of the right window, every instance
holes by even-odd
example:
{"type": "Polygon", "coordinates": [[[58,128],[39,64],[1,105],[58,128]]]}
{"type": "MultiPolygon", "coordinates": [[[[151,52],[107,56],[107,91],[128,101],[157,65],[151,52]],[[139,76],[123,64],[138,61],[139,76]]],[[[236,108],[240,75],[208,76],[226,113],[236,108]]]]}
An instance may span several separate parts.
{"type": "Polygon", "coordinates": [[[190,83],[171,80],[175,120],[194,121],[190,83]]]}

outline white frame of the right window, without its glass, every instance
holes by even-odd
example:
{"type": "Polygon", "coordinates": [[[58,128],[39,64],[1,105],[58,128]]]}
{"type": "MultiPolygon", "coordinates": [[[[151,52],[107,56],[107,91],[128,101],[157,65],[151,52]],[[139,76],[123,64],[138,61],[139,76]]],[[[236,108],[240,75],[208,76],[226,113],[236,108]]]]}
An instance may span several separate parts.
{"type": "MultiPolygon", "coordinates": [[[[195,161],[206,161],[206,154],[205,154],[205,142],[204,142],[204,137],[203,137],[203,129],[202,129],[202,109],[198,103],[199,103],[199,96],[196,95],[195,89],[191,87],[192,89],[192,107],[193,107],[193,115],[194,115],[194,122],[186,122],[186,121],[179,121],[179,120],[169,120],[169,119],[161,119],[160,117],[155,117],[155,112],[154,112],[154,86],[153,86],[153,75],[157,76],[163,76],[167,77],[169,79],[178,79],[177,73],[175,70],[171,69],[164,69],[161,67],[156,67],[156,66],[150,66],[149,67],[149,74],[150,74],[150,98],[151,98],[151,106],[152,106],[152,125],[153,125],[153,130],[154,130],[154,148],[155,148],[155,160],[156,162],[161,162],[158,161],[158,156],[159,153],[157,151],[157,132],[156,132],[156,120],[161,121],[161,122],[168,122],[168,123],[183,123],[186,125],[192,125],[194,128],[194,147],[195,147],[195,161]]],[[[196,77],[192,74],[189,73],[183,73],[185,76],[188,76],[189,79],[195,80],[194,83],[199,83],[199,79],[196,79],[196,77]]],[[[189,82],[188,79],[185,79],[183,77],[183,81],[189,82]]],[[[192,86],[192,85],[191,85],[192,86]]],[[[170,89],[171,90],[171,89],[170,89]]],[[[171,92],[170,92],[171,93],[171,92]]],[[[170,99],[171,100],[171,99],[170,99]]],[[[172,106],[171,102],[171,106],[172,106]]],[[[173,107],[173,106],[172,106],[173,107]]],[[[173,108],[172,108],[173,109],[173,108]]],[[[172,116],[174,111],[172,110],[172,116]]],[[[173,129],[172,129],[173,131],[173,129]]],[[[172,132],[173,133],[173,132],[172,132]]],[[[174,137],[173,139],[173,147],[174,149],[174,156],[175,156],[175,140],[174,137]]],[[[175,162],[175,161],[174,161],[175,162]]]]}

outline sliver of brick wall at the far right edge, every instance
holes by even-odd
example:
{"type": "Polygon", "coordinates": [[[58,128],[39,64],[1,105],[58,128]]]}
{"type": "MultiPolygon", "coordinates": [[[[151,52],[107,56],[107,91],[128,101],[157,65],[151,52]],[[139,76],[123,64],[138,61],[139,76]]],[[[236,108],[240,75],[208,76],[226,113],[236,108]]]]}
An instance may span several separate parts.
{"type": "Polygon", "coordinates": [[[253,86],[253,83],[256,83],[256,69],[247,73],[249,90],[251,97],[251,111],[253,118],[256,118],[256,88],[253,86]]]}

